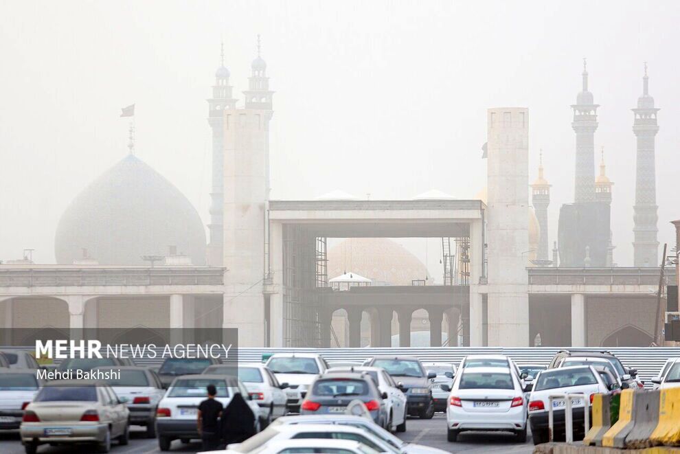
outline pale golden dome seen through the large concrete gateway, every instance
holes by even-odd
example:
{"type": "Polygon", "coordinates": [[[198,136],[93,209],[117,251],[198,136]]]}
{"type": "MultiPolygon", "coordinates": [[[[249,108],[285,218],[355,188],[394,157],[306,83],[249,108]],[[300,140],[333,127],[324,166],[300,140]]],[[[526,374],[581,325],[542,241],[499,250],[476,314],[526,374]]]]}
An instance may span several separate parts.
{"type": "Polygon", "coordinates": [[[411,285],[427,273],[416,256],[388,238],[347,238],[330,248],[328,277],[345,271],[389,285],[411,285]]]}

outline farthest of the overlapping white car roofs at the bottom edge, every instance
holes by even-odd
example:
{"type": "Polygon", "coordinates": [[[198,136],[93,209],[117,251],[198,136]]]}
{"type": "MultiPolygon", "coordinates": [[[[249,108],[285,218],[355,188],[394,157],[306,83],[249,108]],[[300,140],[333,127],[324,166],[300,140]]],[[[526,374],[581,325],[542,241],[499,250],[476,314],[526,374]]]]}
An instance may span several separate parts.
{"type": "Polygon", "coordinates": [[[389,433],[382,427],[375,424],[372,420],[362,416],[353,415],[300,415],[300,416],[284,416],[274,422],[274,426],[280,424],[339,424],[341,426],[352,426],[357,429],[363,429],[368,433],[380,438],[385,442],[394,446],[400,453],[406,454],[443,454],[446,451],[441,449],[431,448],[423,444],[407,443],[400,440],[392,433],[389,433]]]}

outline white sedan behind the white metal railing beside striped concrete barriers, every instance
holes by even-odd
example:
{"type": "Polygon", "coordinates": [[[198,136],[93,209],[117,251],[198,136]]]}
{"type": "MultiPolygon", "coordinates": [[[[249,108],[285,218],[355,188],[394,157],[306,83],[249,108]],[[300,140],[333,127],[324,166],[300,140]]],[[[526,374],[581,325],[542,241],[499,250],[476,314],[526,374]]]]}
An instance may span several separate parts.
{"type": "MultiPolygon", "coordinates": [[[[534,389],[529,396],[529,424],[534,444],[548,440],[548,396],[553,394],[583,393],[583,398],[572,398],[574,431],[583,431],[584,405],[590,405],[598,393],[609,394],[611,389],[591,365],[558,367],[539,372],[534,389]]],[[[565,401],[553,400],[554,427],[556,432],[565,428],[565,401]]],[[[554,438],[557,440],[557,438],[554,438]]]]}

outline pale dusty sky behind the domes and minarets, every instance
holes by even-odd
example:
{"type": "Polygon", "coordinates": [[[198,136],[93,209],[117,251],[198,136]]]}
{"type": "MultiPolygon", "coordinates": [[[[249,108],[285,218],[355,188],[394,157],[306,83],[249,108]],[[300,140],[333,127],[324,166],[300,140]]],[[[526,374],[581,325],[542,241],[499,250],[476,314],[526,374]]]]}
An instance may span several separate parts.
{"type": "MultiPolygon", "coordinates": [[[[335,189],[411,198],[432,188],[472,198],[486,185],[486,109],[526,106],[530,179],[543,148],[552,183],[551,245],[558,209],[574,199],[569,105],[587,57],[601,105],[596,148],[604,146],[615,182],[613,242],[622,266],[633,261],[631,108],[648,60],[650,94],[661,108],[659,240],[674,240],[677,1],[4,1],[0,18],[0,259],[31,247],[37,262],[54,262],[65,207],[127,153],[119,115],[133,103],[137,156],[207,223],[205,99],[220,39],[240,94],[258,33],[276,91],[273,198],[335,189]]],[[[415,248],[424,258],[424,245],[415,248]]],[[[438,263],[433,249],[429,262],[438,263]]]]}

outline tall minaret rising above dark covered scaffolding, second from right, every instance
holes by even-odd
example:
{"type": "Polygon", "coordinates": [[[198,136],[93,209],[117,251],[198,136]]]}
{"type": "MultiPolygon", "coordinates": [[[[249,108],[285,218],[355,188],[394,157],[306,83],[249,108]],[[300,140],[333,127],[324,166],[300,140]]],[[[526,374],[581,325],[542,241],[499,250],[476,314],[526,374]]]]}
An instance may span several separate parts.
{"type": "Polygon", "coordinates": [[[576,172],[574,201],[589,202],[595,199],[595,130],[598,128],[598,104],[593,104],[593,93],[588,91],[588,71],[583,59],[582,90],[576,97],[574,121],[571,128],[576,133],[576,172]]]}

